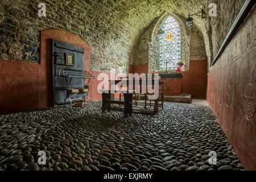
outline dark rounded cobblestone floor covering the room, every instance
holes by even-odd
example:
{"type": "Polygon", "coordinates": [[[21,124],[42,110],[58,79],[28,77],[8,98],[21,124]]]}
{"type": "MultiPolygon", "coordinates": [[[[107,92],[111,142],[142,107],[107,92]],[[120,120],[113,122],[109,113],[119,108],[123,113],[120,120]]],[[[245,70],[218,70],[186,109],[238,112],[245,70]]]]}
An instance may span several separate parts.
{"type": "Polygon", "coordinates": [[[243,166],[209,106],[166,102],[158,114],[123,118],[90,102],[0,115],[0,170],[225,169],[243,166]]]}

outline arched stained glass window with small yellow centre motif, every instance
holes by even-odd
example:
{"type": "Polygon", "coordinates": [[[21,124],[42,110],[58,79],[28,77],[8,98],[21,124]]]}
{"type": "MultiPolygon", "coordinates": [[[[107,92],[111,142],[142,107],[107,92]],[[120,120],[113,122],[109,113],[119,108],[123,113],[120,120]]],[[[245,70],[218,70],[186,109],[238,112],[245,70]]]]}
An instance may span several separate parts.
{"type": "Polygon", "coordinates": [[[180,26],[172,16],[168,16],[162,30],[164,34],[159,35],[159,68],[160,71],[171,71],[177,68],[181,60],[180,26]]]}

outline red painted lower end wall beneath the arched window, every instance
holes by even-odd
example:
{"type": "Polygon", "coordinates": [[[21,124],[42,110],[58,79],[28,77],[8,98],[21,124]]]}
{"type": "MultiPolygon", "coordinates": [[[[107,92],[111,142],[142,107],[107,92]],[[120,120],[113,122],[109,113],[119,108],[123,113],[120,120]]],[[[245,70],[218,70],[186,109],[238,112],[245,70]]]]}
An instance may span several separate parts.
{"type": "MultiPolygon", "coordinates": [[[[148,73],[148,64],[131,65],[131,73],[148,73]]],[[[207,60],[189,61],[189,71],[182,72],[183,78],[161,78],[164,80],[165,95],[192,94],[192,98],[206,98],[207,60]]]]}

